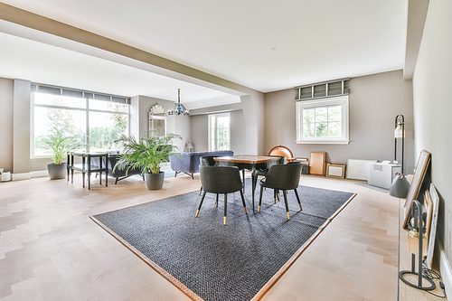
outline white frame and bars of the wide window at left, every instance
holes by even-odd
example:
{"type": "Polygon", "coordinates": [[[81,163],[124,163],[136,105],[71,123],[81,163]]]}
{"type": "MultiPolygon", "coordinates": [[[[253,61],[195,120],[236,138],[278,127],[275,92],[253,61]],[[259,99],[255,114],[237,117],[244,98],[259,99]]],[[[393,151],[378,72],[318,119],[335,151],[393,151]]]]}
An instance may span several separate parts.
{"type": "MultiPolygon", "coordinates": [[[[89,108],[89,97],[80,98],[80,101],[85,102],[85,108],[72,108],[72,107],[65,107],[65,106],[58,106],[58,105],[46,105],[46,104],[35,104],[34,101],[34,93],[40,93],[39,91],[32,91],[31,93],[31,106],[30,106],[30,158],[31,159],[44,159],[44,158],[52,158],[52,155],[34,155],[34,108],[60,108],[60,109],[67,109],[67,110],[74,110],[74,111],[81,111],[85,112],[86,118],[85,118],[85,144],[89,146],[89,112],[99,112],[99,113],[107,113],[107,114],[121,114],[127,116],[127,135],[130,135],[130,105],[127,104],[127,112],[116,112],[111,110],[102,110],[102,109],[96,109],[96,108],[89,108]]],[[[42,92],[41,92],[42,93],[42,92]]],[[[42,93],[52,96],[52,94],[49,93],[42,93]]],[[[58,95],[54,95],[58,96],[58,95]]],[[[106,101],[108,102],[108,101],[106,101]]]]}

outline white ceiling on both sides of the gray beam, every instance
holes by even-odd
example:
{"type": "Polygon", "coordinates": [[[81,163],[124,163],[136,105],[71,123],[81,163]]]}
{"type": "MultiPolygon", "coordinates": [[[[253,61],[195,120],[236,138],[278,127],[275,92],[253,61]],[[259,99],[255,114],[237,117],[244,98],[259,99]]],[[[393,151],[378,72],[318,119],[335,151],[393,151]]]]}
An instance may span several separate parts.
{"type": "MultiPolygon", "coordinates": [[[[262,92],[400,70],[406,0],[6,0],[5,4],[124,42],[262,92]]],[[[0,77],[175,99],[239,101],[86,53],[6,34],[0,77]],[[69,71],[69,72],[68,72],[69,71]],[[184,89],[186,89],[184,91],[184,89]]]]}

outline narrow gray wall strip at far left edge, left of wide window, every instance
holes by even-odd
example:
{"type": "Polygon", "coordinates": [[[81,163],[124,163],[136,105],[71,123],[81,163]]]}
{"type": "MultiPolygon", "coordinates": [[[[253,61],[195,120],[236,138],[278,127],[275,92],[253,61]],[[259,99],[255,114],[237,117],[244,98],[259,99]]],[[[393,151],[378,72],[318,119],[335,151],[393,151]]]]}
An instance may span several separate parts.
{"type": "Polygon", "coordinates": [[[13,172],[14,80],[0,78],[0,168],[13,172]]]}

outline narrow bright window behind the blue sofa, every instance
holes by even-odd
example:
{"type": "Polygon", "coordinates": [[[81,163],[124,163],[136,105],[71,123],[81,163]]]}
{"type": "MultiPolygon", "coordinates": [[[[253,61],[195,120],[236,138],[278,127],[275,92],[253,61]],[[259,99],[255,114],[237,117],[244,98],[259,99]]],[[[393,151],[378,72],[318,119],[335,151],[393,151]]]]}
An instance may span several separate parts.
{"type": "Polygon", "coordinates": [[[209,115],[209,150],[231,149],[231,114],[209,115]]]}

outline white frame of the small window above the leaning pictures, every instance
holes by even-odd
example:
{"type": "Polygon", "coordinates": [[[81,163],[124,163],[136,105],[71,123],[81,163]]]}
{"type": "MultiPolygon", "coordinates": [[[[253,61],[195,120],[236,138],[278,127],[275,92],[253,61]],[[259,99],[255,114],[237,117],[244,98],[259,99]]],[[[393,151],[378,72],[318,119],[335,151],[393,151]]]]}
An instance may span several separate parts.
{"type": "Polygon", "coordinates": [[[348,145],[350,140],[349,127],[349,96],[341,95],[337,97],[329,97],[324,99],[312,99],[297,101],[297,144],[332,144],[332,145],[348,145]],[[304,137],[303,136],[303,110],[305,108],[325,108],[340,105],[342,107],[342,136],[335,137],[304,137]]]}

